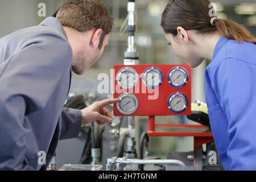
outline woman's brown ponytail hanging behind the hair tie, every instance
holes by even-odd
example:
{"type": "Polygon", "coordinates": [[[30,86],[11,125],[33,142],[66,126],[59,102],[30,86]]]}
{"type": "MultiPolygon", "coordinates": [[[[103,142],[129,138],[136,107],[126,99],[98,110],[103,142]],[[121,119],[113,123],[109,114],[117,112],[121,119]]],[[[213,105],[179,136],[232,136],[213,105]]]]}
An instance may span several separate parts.
{"type": "Polygon", "coordinates": [[[214,26],[216,26],[218,33],[227,39],[256,44],[256,38],[244,26],[232,20],[215,19],[214,26]]]}

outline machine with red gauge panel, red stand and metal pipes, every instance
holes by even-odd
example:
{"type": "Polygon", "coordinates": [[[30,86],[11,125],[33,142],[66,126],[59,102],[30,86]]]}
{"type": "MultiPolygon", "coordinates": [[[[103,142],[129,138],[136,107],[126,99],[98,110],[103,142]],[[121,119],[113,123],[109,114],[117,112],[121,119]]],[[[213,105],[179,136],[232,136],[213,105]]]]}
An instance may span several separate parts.
{"type": "MultiPolygon", "coordinates": [[[[187,65],[139,65],[138,53],[134,47],[134,11],[135,2],[128,3],[128,48],[125,52],[124,65],[115,65],[114,98],[120,102],[114,106],[114,115],[128,117],[129,127],[119,139],[121,148],[126,138],[125,157],[118,153],[117,157],[108,159],[107,170],[138,170],[144,164],[164,164],[164,170],[203,170],[220,169],[218,164],[208,165],[208,152],[213,150],[213,142],[209,129],[207,113],[191,108],[191,68],[187,65]],[[150,98],[156,93],[155,98],[150,98]],[[193,111],[191,111],[193,109],[193,111]],[[134,117],[148,116],[148,132],[143,133],[140,141],[139,159],[135,150],[134,117]],[[170,125],[155,124],[155,115],[189,115],[193,121],[204,125],[170,125]],[[170,128],[170,132],[156,132],[156,127],[170,128]],[[144,140],[148,137],[193,137],[194,151],[170,153],[167,159],[143,159],[144,140]],[[202,145],[207,143],[207,151],[203,153],[202,145]],[[133,155],[130,155],[133,154],[133,155]],[[185,158],[183,157],[185,156],[185,158]],[[187,162],[189,160],[189,162],[187,162]],[[184,161],[184,163],[183,163],[184,161]],[[186,166],[187,164],[187,166],[186,166]]],[[[201,105],[197,103],[197,107],[201,105]]],[[[201,107],[203,107],[202,105],[201,107]]],[[[121,150],[122,153],[122,150],[121,150]]],[[[152,169],[152,168],[151,168],[152,169]]],[[[154,168],[153,168],[154,169],[154,168]]]]}

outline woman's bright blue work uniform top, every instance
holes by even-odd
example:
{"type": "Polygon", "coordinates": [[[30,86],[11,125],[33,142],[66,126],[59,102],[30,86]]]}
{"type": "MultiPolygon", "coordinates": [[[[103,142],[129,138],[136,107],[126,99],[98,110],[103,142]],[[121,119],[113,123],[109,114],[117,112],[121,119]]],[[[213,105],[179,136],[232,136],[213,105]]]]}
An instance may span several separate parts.
{"type": "Polygon", "coordinates": [[[205,71],[210,125],[226,170],[256,170],[256,45],[221,37],[205,71]]]}

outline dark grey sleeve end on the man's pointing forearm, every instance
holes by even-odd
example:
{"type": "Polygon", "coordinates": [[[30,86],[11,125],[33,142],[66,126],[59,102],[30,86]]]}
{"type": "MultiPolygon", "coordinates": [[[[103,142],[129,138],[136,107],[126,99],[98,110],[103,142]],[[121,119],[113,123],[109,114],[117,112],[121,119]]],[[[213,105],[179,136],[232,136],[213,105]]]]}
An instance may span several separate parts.
{"type": "Polygon", "coordinates": [[[81,110],[64,108],[61,113],[60,121],[60,140],[77,137],[82,125],[81,110]]]}

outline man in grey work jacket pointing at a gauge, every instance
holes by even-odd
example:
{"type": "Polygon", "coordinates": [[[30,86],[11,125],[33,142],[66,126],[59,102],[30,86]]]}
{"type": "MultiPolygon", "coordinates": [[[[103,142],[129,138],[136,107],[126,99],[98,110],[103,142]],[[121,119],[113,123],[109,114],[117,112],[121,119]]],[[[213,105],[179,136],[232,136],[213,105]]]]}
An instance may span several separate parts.
{"type": "Polygon", "coordinates": [[[0,39],[0,169],[46,169],[59,139],[77,137],[91,121],[112,123],[104,106],[118,100],[63,109],[72,71],[82,75],[101,57],[112,27],[100,1],[72,0],[56,18],[0,39]]]}

